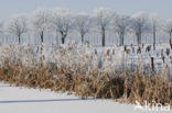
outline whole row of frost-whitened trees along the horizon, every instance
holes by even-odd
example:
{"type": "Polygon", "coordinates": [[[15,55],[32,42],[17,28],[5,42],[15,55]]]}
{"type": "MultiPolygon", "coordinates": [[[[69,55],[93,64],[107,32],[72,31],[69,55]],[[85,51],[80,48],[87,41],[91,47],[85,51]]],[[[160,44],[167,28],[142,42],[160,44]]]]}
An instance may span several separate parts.
{"type": "Polygon", "coordinates": [[[106,46],[106,32],[112,30],[119,37],[119,45],[123,46],[127,33],[132,33],[138,45],[141,44],[142,34],[151,33],[153,45],[157,43],[157,33],[164,32],[169,35],[172,44],[172,20],[161,22],[158,14],[138,12],[133,15],[117,13],[107,8],[97,8],[93,14],[77,13],[62,8],[36,9],[31,15],[13,15],[7,22],[0,23],[0,33],[8,33],[18,36],[19,44],[21,37],[28,32],[39,34],[41,43],[44,43],[44,32],[53,31],[61,34],[62,44],[69,31],[77,31],[82,43],[85,43],[86,34],[90,31],[98,31],[101,35],[101,45],[106,46]]]}

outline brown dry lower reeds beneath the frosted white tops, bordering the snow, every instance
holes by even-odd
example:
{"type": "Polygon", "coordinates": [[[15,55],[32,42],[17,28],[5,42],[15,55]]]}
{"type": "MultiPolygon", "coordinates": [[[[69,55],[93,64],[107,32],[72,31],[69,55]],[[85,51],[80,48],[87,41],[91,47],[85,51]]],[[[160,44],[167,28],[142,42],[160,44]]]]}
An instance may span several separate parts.
{"type": "Polygon", "coordinates": [[[73,65],[45,65],[42,60],[32,67],[25,66],[21,59],[13,63],[13,59],[3,56],[0,68],[0,80],[10,84],[67,91],[83,98],[126,99],[131,103],[136,100],[143,103],[147,100],[150,103],[171,103],[172,106],[172,86],[164,72],[148,75],[140,69],[101,71],[98,68],[87,71],[85,68],[89,67],[88,64],[74,64],[74,68],[73,65]]]}

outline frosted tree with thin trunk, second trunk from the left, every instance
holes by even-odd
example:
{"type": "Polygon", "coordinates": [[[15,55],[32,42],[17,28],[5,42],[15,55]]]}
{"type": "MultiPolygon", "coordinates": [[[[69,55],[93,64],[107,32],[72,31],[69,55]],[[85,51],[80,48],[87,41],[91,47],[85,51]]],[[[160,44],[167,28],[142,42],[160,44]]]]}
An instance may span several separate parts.
{"type": "Polygon", "coordinates": [[[36,9],[32,16],[32,26],[41,37],[41,43],[44,42],[44,32],[50,26],[50,10],[36,9]]]}

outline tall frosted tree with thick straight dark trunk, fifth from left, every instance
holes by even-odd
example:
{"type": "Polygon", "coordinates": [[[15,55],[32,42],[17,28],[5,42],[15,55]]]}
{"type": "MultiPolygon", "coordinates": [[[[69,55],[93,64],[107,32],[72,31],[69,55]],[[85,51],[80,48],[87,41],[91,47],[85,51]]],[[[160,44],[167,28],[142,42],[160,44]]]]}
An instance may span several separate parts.
{"type": "Polygon", "coordinates": [[[106,8],[98,8],[94,11],[95,22],[100,30],[101,33],[101,44],[105,46],[106,44],[106,30],[114,18],[114,13],[106,8]]]}

